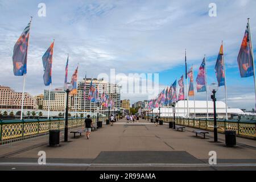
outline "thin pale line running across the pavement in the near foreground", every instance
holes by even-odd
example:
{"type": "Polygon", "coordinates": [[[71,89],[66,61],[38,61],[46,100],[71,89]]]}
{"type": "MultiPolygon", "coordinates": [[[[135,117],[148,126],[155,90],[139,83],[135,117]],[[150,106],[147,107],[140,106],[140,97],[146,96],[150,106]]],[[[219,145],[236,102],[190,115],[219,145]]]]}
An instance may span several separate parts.
{"type": "Polygon", "coordinates": [[[63,166],[63,167],[256,167],[256,163],[221,163],[210,164],[169,164],[169,163],[142,163],[142,164],[85,164],[85,163],[0,163],[0,166],[63,166]]]}

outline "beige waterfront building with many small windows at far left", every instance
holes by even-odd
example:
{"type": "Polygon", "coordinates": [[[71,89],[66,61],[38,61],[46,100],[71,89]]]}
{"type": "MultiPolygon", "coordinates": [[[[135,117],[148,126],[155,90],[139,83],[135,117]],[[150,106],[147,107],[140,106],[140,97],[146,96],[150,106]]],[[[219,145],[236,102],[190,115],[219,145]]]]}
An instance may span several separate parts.
{"type": "MultiPolygon", "coordinates": [[[[0,85],[0,109],[21,109],[22,92],[15,92],[9,86],[0,85]]],[[[23,109],[37,109],[36,99],[24,93],[23,109]]]]}

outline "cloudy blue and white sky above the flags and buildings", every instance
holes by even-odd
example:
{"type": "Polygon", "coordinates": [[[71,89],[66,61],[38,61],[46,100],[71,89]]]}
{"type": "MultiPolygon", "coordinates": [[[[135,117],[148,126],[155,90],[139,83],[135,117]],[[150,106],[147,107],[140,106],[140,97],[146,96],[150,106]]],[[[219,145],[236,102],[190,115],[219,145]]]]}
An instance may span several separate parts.
{"type": "MultiPolygon", "coordinates": [[[[100,73],[159,73],[161,88],[184,73],[184,49],[195,75],[207,56],[208,83],[216,82],[214,65],[224,41],[228,106],[251,109],[253,77],[240,78],[237,55],[250,18],[256,47],[256,1],[12,1],[0,0],[0,85],[22,91],[22,77],[13,75],[13,47],[32,15],[26,92],[43,93],[42,56],[55,39],[53,88],[63,86],[69,53],[69,78],[79,63],[79,80],[100,73]],[[216,3],[217,16],[208,14],[216,3]],[[45,3],[46,16],[38,16],[45,3]]],[[[255,50],[255,49],[254,49],[255,50]]],[[[217,93],[224,100],[224,88],[217,93]]],[[[132,102],[147,94],[122,94],[132,102]]],[[[205,99],[205,93],[196,94],[205,99]]]]}

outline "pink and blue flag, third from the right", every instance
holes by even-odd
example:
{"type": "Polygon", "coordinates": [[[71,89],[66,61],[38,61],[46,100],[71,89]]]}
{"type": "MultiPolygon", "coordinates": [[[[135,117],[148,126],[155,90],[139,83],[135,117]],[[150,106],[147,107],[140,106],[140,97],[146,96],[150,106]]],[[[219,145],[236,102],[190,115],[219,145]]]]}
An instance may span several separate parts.
{"type": "Polygon", "coordinates": [[[199,67],[199,71],[196,77],[196,89],[197,92],[206,92],[205,86],[205,58],[203,59],[202,64],[199,67]]]}

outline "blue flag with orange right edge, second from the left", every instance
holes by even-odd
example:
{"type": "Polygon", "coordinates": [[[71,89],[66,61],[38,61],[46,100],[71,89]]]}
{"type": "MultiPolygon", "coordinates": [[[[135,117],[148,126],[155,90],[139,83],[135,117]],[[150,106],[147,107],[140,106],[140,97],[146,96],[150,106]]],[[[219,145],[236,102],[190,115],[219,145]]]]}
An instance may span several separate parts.
{"type": "Polygon", "coordinates": [[[48,86],[52,83],[52,55],[53,55],[53,46],[54,42],[47,49],[46,53],[44,53],[42,60],[44,66],[44,85],[48,86]]]}

